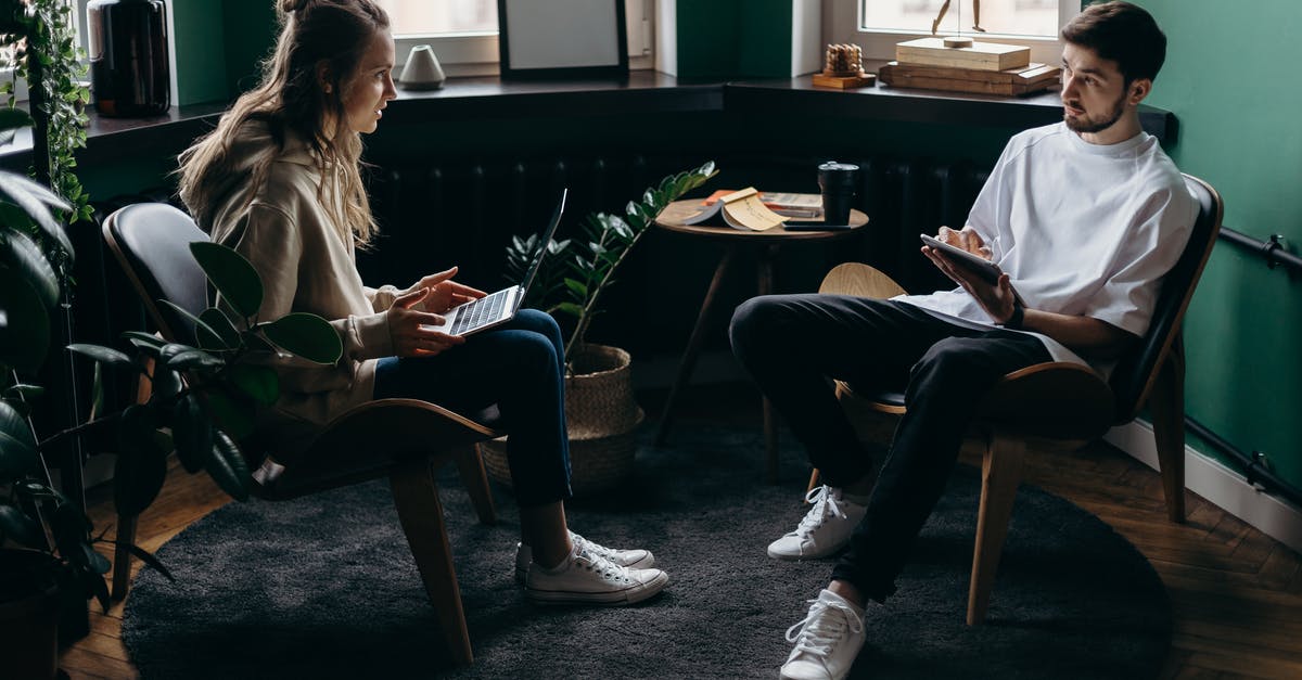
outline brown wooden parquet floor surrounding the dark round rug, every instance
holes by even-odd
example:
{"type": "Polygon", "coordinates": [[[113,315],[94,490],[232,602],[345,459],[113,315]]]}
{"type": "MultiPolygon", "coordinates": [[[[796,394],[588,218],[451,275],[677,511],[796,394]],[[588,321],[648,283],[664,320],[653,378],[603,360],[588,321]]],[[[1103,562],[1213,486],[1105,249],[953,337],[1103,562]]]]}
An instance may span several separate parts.
{"type": "MultiPolygon", "coordinates": [[[[648,414],[658,414],[664,393],[639,399],[648,414]]],[[[759,427],[758,396],[742,386],[686,390],[677,413],[684,421],[759,427]],[[720,404],[738,406],[720,409],[720,404]]],[[[755,474],[762,470],[756,451],[755,474]]],[[[1103,443],[1073,453],[1038,452],[1030,456],[1027,479],[1115,526],[1161,574],[1176,620],[1161,679],[1302,679],[1302,558],[1297,552],[1194,494],[1187,495],[1189,521],[1168,522],[1157,474],[1103,443]]],[[[141,517],[137,542],[156,550],[227,502],[206,475],[173,466],[161,496],[141,517]]],[[[104,491],[92,490],[91,504],[95,526],[113,522],[104,491]]],[[[94,610],[91,634],[61,657],[70,677],[135,677],[121,642],[121,603],[107,615],[94,610]]]]}

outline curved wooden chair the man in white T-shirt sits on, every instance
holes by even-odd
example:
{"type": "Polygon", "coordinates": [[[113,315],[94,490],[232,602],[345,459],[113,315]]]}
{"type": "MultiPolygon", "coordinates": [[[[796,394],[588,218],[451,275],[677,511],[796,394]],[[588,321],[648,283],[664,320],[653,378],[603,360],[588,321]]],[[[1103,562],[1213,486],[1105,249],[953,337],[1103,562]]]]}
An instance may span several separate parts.
{"type": "MultiPolygon", "coordinates": [[[[979,400],[976,421],[965,442],[983,452],[967,625],[986,619],[1027,448],[1079,448],[1101,436],[1108,427],[1133,421],[1147,405],[1152,414],[1167,515],[1173,522],[1185,521],[1181,320],[1216,242],[1224,210],[1220,194],[1211,185],[1189,175],[1185,184],[1199,203],[1189,245],[1163,281],[1147,335],[1120,360],[1111,379],[1103,382],[1095,371],[1075,363],[1047,362],[1005,375],[979,400]]],[[[828,272],[819,292],[888,298],[905,290],[872,267],[845,263],[828,272]]],[[[837,380],[836,393],[852,421],[872,412],[905,412],[901,392],[857,392],[837,380]]],[[[814,470],[810,489],[816,483],[818,470],[814,470]]]]}

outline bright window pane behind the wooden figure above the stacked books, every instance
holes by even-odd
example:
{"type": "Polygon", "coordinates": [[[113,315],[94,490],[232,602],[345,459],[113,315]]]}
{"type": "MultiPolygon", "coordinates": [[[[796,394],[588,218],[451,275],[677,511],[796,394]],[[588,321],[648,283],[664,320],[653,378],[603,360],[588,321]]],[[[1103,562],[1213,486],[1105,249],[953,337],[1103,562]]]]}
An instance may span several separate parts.
{"type": "MultiPolygon", "coordinates": [[[[945,0],[862,0],[866,31],[931,33],[945,0]]],[[[1056,38],[1059,0],[950,0],[937,33],[973,34],[974,7],[980,5],[980,27],[987,33],[1056,38]]]]}

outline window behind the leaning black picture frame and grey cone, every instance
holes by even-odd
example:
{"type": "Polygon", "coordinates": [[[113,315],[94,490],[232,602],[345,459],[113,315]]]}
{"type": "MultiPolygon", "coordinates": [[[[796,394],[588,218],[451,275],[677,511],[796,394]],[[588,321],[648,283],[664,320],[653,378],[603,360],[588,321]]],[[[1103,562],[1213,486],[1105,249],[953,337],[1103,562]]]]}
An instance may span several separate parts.
{"type": "MultiPolygon", "coordinates": [[[[497,73],[497,0],[376,0],[389,13],[401,66],[418,44],[434,47],[448,76],[497,73]]],[[[629,68],[651,68],[652,0],[624,0],[629,68]]]]}

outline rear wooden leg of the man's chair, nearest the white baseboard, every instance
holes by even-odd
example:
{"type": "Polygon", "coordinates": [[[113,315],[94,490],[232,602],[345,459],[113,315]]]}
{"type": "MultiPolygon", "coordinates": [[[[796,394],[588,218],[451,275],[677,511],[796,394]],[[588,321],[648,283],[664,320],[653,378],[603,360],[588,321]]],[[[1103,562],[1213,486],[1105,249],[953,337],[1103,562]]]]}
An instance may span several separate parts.
{"type": "Polygon", "coordinates": [[[1185,524],[1185,357],[1178,340],[1157,369],[1148,408],[1157,444],[1157,472],[1167,496],[1167,517],[1185,524]]]}

